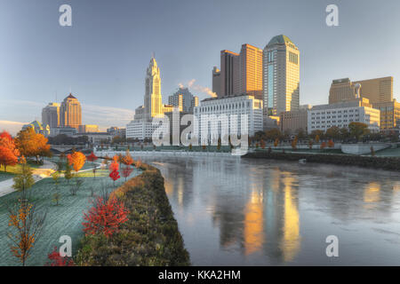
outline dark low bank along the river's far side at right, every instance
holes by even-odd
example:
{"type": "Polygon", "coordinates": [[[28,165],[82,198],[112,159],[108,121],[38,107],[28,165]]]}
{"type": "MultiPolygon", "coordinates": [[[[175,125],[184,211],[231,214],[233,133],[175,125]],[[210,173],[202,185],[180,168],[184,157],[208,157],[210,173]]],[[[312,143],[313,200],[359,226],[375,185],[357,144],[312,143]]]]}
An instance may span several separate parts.
{"type": "Polygon", "coordinates": [[[299,161],[329,163],[344,166],[400,171],[400,159],[395,157],[372,157],[354,154],[304,154],[304,153],[277,153],[258,152],[243,156],[248,159],[271,159],[284,161],[299,161]]]}

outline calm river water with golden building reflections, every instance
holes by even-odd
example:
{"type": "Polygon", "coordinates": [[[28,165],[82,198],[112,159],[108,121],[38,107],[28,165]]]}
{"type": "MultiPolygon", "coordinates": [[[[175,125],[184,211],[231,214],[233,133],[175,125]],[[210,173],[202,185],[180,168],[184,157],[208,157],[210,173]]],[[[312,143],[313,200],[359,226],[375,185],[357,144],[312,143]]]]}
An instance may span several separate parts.
{"type": "Polygon", "coordinates": [[[194,265],[400,264],[400,174],[220,157],[146,158],[194,265]],[[339,256],[326,255],[326,237],[339,256]]]}

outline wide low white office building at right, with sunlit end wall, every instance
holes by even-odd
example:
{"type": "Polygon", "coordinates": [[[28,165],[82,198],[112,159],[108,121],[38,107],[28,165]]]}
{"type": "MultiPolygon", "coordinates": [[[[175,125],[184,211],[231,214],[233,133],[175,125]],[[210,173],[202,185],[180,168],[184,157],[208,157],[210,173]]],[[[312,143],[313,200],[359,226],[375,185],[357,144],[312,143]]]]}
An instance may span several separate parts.
{"type": "Polygon", "coordinates": [[[333,126],[348,128],[350,122],[363,122],[372,132],[380,131],[380,110],[370,107],[368,99],[313,106],[308,110],[308,133],[326,131],[333,126]]]}

